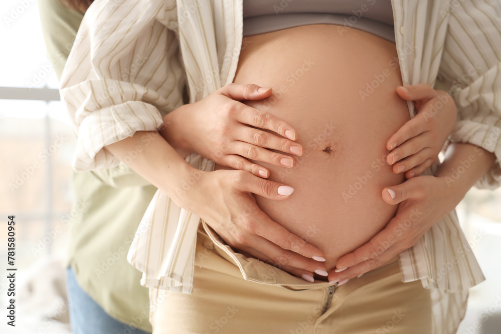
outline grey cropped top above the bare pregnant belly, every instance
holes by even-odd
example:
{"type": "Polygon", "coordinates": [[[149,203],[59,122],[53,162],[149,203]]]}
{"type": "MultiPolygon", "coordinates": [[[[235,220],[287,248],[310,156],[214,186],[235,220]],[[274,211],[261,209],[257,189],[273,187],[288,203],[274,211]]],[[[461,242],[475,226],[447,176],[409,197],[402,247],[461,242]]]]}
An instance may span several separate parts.
{"type": "Polygon", "coordinates": [[[390,0],[243,0],[243,37],[316,24],[355,28],[395,43],[390,0]]]}

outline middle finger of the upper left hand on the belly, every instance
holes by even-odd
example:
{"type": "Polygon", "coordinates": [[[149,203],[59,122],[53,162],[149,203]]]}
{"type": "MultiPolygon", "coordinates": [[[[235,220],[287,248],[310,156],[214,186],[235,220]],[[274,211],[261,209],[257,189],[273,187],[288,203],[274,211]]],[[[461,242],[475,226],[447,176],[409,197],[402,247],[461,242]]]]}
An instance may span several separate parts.
{"type": "Polygon", "coordinates": [[[301,144],[297,144],[290,139],[281,138],[273,133],[248,126],[237,127],[235,129],[234,137],[236,140],[242,142],[260,147],[266,147],[280,152],[291,153],[297,156],[301,156],[303,154],[303,146],[301,144]]]}

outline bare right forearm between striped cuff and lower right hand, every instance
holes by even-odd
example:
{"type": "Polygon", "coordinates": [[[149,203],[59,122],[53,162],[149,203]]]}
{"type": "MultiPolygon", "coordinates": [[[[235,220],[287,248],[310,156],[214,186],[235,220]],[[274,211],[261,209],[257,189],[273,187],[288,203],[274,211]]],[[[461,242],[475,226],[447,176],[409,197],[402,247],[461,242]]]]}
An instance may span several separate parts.
{"type": "Polygon", "coordinates": [[[445,160],[435,176],[444,177],[451,187],[456,204],[466,192],[485,174],[495,161],[495,155],[481,147],[454,143],[445,152],[445,160]]]}

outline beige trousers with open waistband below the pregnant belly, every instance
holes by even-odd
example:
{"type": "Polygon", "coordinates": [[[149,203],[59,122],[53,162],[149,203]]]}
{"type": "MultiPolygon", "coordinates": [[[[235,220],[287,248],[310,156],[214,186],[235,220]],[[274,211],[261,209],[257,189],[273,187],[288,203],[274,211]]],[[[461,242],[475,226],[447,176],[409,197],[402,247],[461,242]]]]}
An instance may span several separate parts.
{"type": "Polygon", "coordinates": [[[235,253],[202,221],[193,293],[164,293],[154,334],[430,333],[430,290],[402,283],[398,255],[347,283],[314,283],[235,253]]]}

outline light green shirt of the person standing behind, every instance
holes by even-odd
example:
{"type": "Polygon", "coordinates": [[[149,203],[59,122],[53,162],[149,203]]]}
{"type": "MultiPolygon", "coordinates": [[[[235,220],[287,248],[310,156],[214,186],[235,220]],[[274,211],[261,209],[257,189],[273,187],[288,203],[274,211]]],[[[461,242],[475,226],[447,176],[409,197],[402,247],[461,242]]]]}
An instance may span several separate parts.
{"type": "MultiPolygon", "coordinates": [[[[59,0],[39,0],[39,9],[48,57],[60,79],[83,15],[59,0]]],[[[73,173],[72,186],[68,265],[78,284],[115,319],[151,332],[148,289],[127,262],[127,251],[156,187],[125,164],[73,173]]]]}

